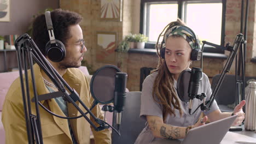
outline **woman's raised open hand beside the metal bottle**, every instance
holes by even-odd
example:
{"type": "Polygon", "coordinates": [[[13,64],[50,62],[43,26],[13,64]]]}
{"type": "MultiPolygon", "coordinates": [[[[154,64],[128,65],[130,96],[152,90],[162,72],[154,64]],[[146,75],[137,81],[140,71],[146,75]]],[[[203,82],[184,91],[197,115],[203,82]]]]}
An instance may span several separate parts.
{"type": "Polygon", "coordinates": [[[232,123],[232,126],[240,125],[243,122],[243,119],[245,119],[245,112],[243,112],[243,106],[245,106],[246,101],[242,100],[240,104],[238,104],[234,111],[233,114],[237,115],[235,121],[232,123]]]}

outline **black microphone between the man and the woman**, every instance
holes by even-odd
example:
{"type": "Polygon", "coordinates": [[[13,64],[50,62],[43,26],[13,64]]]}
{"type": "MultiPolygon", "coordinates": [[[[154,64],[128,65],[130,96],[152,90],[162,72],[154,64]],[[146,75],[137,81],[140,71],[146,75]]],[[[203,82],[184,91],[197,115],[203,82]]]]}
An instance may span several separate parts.
{"type": "Polygon", "coordinates": [[[118,129],[121,123],[121,111],[124,110],[126,99],[126,80],[127,74],[117,72],[115,74],[115,89],[114,89],[114,109],[117,111],[117,126],[118,129]]]}

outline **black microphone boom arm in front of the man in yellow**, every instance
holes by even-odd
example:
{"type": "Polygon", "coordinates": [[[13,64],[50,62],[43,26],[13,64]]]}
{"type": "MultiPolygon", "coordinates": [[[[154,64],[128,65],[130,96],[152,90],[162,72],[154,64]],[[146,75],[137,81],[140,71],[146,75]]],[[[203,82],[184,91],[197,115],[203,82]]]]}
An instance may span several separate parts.
{"type": "MultiPolygon", "coordinates": [[[[45,72],[45,74],[50,77],[50,79],[53,81],[54,85],[59,89],[59,92],[62,92],[62,94],[59,94],[57,97],[63,97],[63,99],[67,100],[69,103],[72,103],[76,107],[76,109],[83,115],[83,117],[86,119],[86,121],[88,121],[90,123],[90,125],[96,131],[100,131],[100,130],[109,128],[110,125],[107,122],[104,122],[101,119],[98,119],[88,109],[88,107],[85,106],[83,101],[80,100],[78,93],[75,92],[75,90],[73,88],[69,87],[67,82],[65,80],[63,80],[63,78],[59,75],[59,73],[57,73],[57,71],[48,62],[48,60],[43,56],[43,54],[38,49],[37,45],[34,43],[32,38],[28,34],[25,33],[25,34],[21,35],[15,41],[15,47],[16,47],[17,56],[18,56],[18,67],[19,67],[19,74],[20,74],[22,100],[24,103],[28,143],[34,143],[34,141],[36,141],[36,143],[43,143],[42,128],[41,128],[41,124],[40,124],[40,114],[39,114],[39,107],[38,107],[38,104],[40,104],[40,103],[38,100],[36,82],[34,79],[32,59],[34,61],[36,61],[36,63],[39,65],[40,68],[42,68],[42,70],[45,72]],[[23,64],[21,62],[23,62],[23,64]],[[29,62],[29,63],[27,63],[27,62],[29,62]],[[32,115],[32,111],[31,111],[30,87],[29,87],[29,82],[28,82],[29,78],[28,78],[28,73],[27,73],[28,65],[30,65],[30,69],[31,69],[31,81],[32,81],[32,86],[33,86],[34,102],[35,102],[35,106],[36,106],[36,115],[32,115]],[[24,68],[25,81],[24,81],[24,77],[22,74],[22,66],[24,68]],[[25,91],[24,84],[26,85],[26,91],[25,91]],[[68,89],[69,92],[66,91],[66,88],[64,86],[68,89]],[[75,103],[75,101],[77,101],[77,100],[84,107],[84,109],[90,114],[90,116],[94,119],[94,121],[100,125],[99,127],[96,127],[96,125],[94,123],[92,123],[92,121],[85,115],[85,113],[75,103]]],[[[46,98],[46,99],[49,99],[49,98],[46,98]]],[[[40,99],[40,100],[42,100],[42,99],[40,99]]],[[[45,99],[43,99],[43,100],[45,100],[45,99]]],[[[110,127],[112,127],[112,126],[110,126],[110,127]]],[[[118,133],[117,130],[115,130],[115,131],[118,133]]]]}

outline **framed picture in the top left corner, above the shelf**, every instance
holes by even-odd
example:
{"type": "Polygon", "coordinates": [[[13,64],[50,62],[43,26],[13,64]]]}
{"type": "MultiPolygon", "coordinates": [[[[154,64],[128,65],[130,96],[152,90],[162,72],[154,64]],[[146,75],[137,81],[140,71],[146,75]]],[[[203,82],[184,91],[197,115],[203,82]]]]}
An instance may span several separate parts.
{"type": "Polygon", "coordinates": [[[0,21],[10,21],[10,0],[0,0],[0,21]]]}

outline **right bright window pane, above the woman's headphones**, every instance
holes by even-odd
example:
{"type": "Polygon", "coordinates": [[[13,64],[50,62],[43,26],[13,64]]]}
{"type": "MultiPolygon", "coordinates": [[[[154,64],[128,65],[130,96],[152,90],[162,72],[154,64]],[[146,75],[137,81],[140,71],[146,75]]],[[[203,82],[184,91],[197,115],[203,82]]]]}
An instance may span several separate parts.
{"type": "Polygon", "coordinates": [[[222,32],[222,3],[188,3],[186,23],[200,40],[219,44],[222,32]]]}

